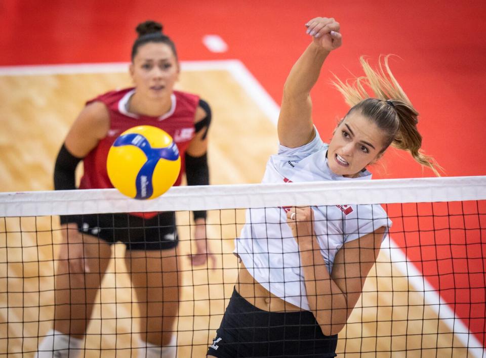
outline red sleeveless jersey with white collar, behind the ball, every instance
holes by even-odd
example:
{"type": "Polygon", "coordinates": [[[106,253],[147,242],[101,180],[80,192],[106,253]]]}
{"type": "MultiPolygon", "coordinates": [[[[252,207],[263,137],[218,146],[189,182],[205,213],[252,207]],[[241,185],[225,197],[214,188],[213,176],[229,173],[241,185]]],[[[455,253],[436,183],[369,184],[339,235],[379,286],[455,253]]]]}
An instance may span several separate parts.
{"type": "Polygon", "coordinates": [[[134,88],[112,91],[88,101],[102,102],[106,105],[110,116],[110,128],[105,138],[83,159],[84,175],[79,189],[113,188],[106,170],[106,158],[113,142],[125,130],[137,125],[152,125],[168,132],[177,144],[181,156],[181,172],[175,186],[181,184],[185,171],[185,152],[189,142],[194,138],[194,116],[199,104],[196,95],[174,91],[171,95],[171,110],[160,117],[137,115],[127,111],[130,97],[135,93],[134,88]]]}

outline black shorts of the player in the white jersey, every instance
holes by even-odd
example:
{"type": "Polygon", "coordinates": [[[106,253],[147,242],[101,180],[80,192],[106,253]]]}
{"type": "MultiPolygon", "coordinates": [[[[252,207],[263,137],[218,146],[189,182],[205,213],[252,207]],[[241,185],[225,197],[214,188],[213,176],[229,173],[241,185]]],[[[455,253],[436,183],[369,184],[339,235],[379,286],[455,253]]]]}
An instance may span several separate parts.
{"type": "Polygon", "coordinates": [[[335,357],[338,335],[325,336],[309,311],[268,312],[235,289],[208,355],[216,357],[335,357]]]}

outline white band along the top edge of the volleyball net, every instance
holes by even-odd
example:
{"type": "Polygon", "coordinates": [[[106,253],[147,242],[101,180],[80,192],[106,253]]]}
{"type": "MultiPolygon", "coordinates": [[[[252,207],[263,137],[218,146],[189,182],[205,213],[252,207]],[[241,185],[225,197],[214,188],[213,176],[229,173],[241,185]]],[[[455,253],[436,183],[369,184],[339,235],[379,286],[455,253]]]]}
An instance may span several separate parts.
{"type": "Polygon", "coordinates": [[[173,187],[153,200],[116,189],[0,193],[0,217],[486,199],[486,176],[173,187]]]}

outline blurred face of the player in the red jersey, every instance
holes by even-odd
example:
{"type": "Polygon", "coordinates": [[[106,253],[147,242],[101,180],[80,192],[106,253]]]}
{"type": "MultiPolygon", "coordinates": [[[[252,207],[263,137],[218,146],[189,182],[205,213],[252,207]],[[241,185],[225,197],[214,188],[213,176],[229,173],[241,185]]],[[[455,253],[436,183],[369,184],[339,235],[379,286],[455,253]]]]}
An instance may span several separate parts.
{"type": "Polygon", "coordinates": [[[169,45],[149,42],[138,48],[130,75],[137,93],[153,99],[165,98],[172,94],[179,78],[179,63],[169,45]]]}

